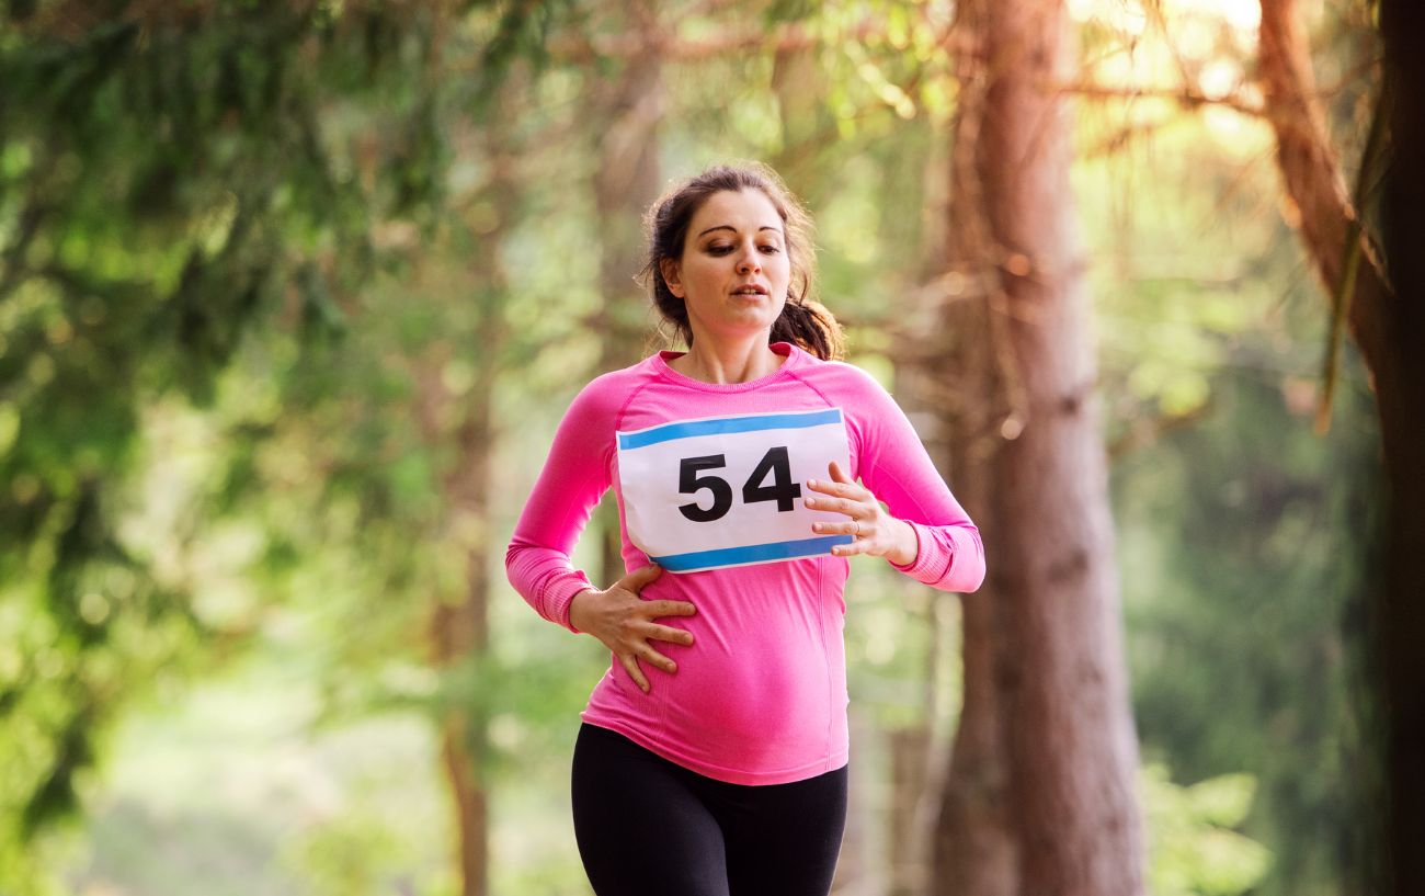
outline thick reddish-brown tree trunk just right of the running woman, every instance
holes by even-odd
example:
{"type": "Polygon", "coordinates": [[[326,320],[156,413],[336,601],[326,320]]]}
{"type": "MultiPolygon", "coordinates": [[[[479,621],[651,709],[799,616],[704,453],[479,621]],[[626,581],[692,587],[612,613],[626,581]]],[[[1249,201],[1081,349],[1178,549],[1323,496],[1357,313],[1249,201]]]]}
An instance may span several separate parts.
{"type": "Polygon", "coordinates": [[[960,7],[949,315],[955,482],[985,538],[965,599],[965,711],[945,795],[943,893],[1143,892],[1123,665],[1053,0],[960,7]],[[958,277],[956,277],[958,275],[958,277]],[[988,390],[966,395],[966,390],[988,390]],[[985,402],[976,408],[975,402],[985,402]],[[1000,825],[1009,840],[999,835],[1000,825]]]}

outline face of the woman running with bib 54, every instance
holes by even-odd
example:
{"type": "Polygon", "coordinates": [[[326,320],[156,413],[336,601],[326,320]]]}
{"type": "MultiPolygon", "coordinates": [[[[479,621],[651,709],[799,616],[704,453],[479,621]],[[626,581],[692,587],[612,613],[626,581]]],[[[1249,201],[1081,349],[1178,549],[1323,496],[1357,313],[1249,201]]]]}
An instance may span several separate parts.
{"type": "Polygon", "coordinates": [[[683,257],[661,267],[688,308],[694,340],[771,330],[791,284],[782,218],[761,190],[710,195],[688,224],[683,257]]]}

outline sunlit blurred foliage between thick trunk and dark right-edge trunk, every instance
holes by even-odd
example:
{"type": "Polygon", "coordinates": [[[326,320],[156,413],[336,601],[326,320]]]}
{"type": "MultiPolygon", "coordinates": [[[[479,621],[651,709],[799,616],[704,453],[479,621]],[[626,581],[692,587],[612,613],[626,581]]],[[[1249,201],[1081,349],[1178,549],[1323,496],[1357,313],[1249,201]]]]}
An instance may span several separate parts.
{"type": "MultiPolygon", "coordinates": [[[[1214,26],[1184,6],[1164,30],[1161,9],[1104,10],[1083,30],[1099,83],[1251,96],[1234,86],[1255,53],[1251,23],[1214,26]]],[[[1369,34],[1330,30],[1337,49],[1317,63],[1352,110],[1367,80],[1344,70],[1369,34]]],[[[1271,133],[1163,94],[1082,100],[1074,171],[1120,458],[1134,713],[1144,755],[1188,780],[1254,776],[1244,830],[1273,853],[1254,892],[1337,893],[1369,839],[1357,669],[1378,524],[1369,395],[1352,358],[1331,434],[1311,437],[1328,315],[1277,211],[1271,133]]],[[[1340,133],[1349,160],[1365,128],[1340,133]]]]}

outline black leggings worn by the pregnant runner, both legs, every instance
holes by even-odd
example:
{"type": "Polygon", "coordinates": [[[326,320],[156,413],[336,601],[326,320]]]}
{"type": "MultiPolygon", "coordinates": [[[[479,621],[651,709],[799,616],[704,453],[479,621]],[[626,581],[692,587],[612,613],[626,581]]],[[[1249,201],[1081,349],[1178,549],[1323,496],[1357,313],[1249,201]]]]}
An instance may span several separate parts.
{"type": "Polygon", "coordinates": [[[846,768],[734,785],[584,725],[573,803],[598,896],[826,896],[846,823],[846,768]]]}

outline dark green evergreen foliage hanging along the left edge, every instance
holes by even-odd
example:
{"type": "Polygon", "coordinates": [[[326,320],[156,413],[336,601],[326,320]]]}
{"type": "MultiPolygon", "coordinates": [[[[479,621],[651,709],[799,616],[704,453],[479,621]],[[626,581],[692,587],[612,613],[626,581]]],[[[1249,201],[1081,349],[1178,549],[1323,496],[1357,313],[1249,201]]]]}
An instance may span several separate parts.
{"type": "MultiPolygon", "coordinates": [[[[429,225],[442,203],[432,66],[450,17],[509,54],[530,47],[522,10],[9,6],[0,752],[13,760],[0,842],[23,845],[74,805],[105,725],[154,675],[244,636],[202,619],[197,582],[162,562],[205,514],[171,519],[162,555],[121,531],[141,501],[133,475],[154,462],[140,455],[148,409],[165,395],[211,405],[254,327],[281,321],[304,347],[342,332],[355,291],[386,261],[382,227],[429,225]]],[[[479,47],[467,58],[483,83],[502,76],[479,47]]],[[[264,434],[237,439],[235,469],[264,434]]],[[[393,468],[393,488],[409,489],[419,464],[393,468]]],[[[232,505],[239,489],[232,477],[214,498],[232,505]]],[[[0,889],[36,880],[0,863],[0,889]]]]}

